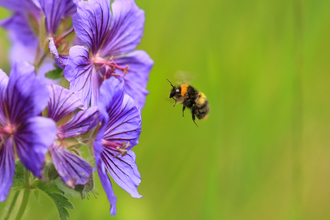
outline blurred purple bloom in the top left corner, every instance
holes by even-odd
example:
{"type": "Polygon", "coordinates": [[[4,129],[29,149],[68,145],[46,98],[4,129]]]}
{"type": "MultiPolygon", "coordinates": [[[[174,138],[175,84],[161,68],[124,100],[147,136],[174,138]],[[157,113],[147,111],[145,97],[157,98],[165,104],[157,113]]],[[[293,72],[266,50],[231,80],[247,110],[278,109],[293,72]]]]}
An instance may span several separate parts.
{"type": "MultiPolygon", "coordinates": [[[[35,58],[38,43],[44,48],[48,37],[54,37],[59,46],[64,38],[73,31],[70,22],[63,22],[76,11],[79,0],[0,0],[0,6],[13,11],[12,16],[2,20],[0,26],[7,29],[12,40],[12,60],[35,58]],[[42,27],[42,17],[45,17],[45,26],[42,27]],[[61,32],[58,33],[59,26],[61,32]],[[45,29],[45,39],[39,39],[41,29],[45,29]]],[[[34,60],[28,60],[34,62],[34,60]]]]}

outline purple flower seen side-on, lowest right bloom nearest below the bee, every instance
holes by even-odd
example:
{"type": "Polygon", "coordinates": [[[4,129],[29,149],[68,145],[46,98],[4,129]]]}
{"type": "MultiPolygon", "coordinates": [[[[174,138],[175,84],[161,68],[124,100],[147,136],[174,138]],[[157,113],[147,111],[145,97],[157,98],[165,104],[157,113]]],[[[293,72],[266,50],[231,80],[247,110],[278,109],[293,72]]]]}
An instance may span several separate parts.
{"type": "MultiPolygon", "coordinates": [[[[121,79],[122,80],[122,79],[121,79]]],[[[98,100],[101,127],[94,141],[97,170],[111,204],[110,214],[116,214],[116,201],[108,174],[134,198],[141,182],[131,148],[138,144],[141,117],[133,99],[125,94],[124,82],[111,77],[100,89],[98,100]]]]}

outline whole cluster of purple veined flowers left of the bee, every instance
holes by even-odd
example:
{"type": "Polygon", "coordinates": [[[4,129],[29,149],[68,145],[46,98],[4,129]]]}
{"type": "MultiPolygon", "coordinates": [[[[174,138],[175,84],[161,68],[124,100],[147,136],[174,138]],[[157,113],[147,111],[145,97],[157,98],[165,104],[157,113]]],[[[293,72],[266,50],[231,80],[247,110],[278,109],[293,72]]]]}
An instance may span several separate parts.
{"type": "Polygon", "coordinates": [[[49,158],[67,187],[88,184],[93,168],[76,147],[84,143],[90,144],[115,215],[109,174],[141,197],[131,149],[139,142],[153,66],[146,52],[135,50],[143,10],[134,0],[0,0],[0,5],[13,12],[0,23],[12,41],[13,63],[9,77],[0,71],[0,201],[13,184],[15,158],[38,178],[49,158]],[[54,63],[61,70],[56,80],[46,77],[54,63]],[[69,89],[56,85],[65,85],[62,76],[69,89]]]}

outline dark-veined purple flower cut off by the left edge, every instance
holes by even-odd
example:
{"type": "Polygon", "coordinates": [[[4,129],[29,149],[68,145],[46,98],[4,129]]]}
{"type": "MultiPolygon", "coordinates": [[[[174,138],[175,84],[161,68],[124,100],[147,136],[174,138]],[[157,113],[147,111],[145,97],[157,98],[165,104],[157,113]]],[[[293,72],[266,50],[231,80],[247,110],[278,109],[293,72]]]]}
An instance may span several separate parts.
{"type": "Polygon", "coordinates": [[[0,71],[0,201],[7,198],[15,173],[15,150],[22,164],[40,177],[48,146],[54,141],[54,121],[39,115],[47,104],[47,87],[34,67],[15,63],[10,78],[0,71]],[[14,149],[15,148],[15,149],[14,149]]]}

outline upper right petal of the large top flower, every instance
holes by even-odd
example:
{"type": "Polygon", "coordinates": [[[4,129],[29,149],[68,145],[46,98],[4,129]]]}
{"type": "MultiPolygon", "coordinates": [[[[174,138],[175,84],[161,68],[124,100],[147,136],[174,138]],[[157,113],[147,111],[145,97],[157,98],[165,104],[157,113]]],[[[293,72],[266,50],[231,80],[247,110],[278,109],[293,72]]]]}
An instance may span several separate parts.
{"type": "Polygon", "coordinates": [[[128,53],[140,43],[144,11],[139,9],[134,0],[116,0],[112,4],[113,19],[109,35],[100,56],[115,56],[128,53]]]}

